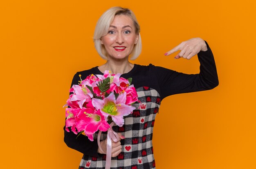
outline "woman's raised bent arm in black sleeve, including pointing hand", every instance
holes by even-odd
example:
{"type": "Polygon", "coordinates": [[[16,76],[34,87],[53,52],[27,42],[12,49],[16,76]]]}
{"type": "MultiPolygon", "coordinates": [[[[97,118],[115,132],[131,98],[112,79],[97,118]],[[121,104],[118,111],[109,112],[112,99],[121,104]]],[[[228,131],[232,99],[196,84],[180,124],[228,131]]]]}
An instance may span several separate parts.
{"type": "Polygon", "coordinates": [[[175,58],[190,59],[198,54],[200,73],[185,74],[163,67],[155,67],[154,73],[156,73],[162,99],[173,94],[204,91],[218,86],[216,64],[206,41],[201,38],[193,38],[182,42],[165,55],[170,55],[178,50],[181,51],[175,58]]]}

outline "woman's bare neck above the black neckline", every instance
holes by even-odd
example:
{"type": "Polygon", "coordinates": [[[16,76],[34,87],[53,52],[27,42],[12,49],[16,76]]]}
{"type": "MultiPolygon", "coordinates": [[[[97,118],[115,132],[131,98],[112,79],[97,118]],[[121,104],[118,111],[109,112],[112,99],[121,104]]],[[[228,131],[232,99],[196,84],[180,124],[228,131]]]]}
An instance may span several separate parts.
{"type": "Polygon", "coordinates": [[[134,64],[130,63],[128,60],[126,61],[113,61],[108,60],[105,64],[99,66],[99,70],[103,73],[105,70],[111,71],[113,74],[117,73],[128,73],[132,68],[134,67],[134,64]]]}

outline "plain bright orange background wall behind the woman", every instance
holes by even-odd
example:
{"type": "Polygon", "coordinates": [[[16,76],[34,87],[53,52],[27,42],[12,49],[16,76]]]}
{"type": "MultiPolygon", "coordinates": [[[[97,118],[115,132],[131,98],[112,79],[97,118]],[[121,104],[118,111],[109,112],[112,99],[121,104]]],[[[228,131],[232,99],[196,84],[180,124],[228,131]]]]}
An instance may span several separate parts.
{"type": "Polygon", "coordinates": [[[198,73],[196,57],[163,54],[207,40],[220,85],[162,101],[153,135],[157,169],[255,169],[255,2],[252,0],[5,0],[0,2],[0,168],[76,169],[63,142],[74,73],[104,63],[92,41],[101,14],[132,9],[143,49],[133,63],[198,73]],[[165,131],[165,132],[164,132],[165,131]]]}

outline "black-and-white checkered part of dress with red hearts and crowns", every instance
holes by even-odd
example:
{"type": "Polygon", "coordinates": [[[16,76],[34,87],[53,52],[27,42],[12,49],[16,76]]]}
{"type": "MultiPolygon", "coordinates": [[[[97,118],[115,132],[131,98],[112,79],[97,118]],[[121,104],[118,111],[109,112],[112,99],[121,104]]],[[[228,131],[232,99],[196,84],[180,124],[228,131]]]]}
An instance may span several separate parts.
{"type": "MultiPolygon", "coordinates": [[[[136,89],[140,103],[132,114],[125,117],[124,125],[113,126],[113,130],[120,132],[125,139],[121,140],[122,151],[111,159],[111,169],[155,169],[152,137],[155,115],[160,107],[159,93],[150,87],[136,89]]],[[[101,140],[106,133],[101,134],[101,140]]],[[[94,138],[97,138],[95,133],[94,138]]],[[[79,169],[105,169],[106,155],[92,157],[84,155],[79,169]]]]}

